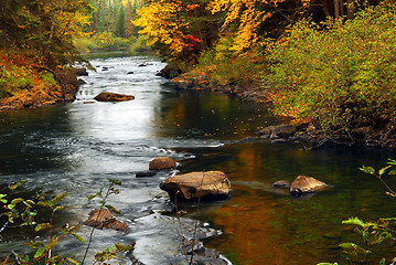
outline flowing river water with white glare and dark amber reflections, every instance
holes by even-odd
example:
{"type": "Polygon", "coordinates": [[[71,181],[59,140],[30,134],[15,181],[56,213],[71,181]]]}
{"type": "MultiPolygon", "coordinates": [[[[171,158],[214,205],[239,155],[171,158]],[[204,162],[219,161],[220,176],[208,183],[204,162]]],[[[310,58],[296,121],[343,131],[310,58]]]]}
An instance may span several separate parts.
{"type": "MultiPolygon", "coordinates": [[[[277,123],[265,106],[224,94],[178,91],[154,76],[164,63],[152,57],[95,59],[92,64],[97,72],[83,77],[87,84],[73,104],[0,113],[0,191],[10,182],[29,180],[22,190],[43,190],[47,195],[67,192],[57,225],[83,222],[98,203],[86,197],[106,186],[108,178],[122,181],[120,193],[109,203],[125,213],[120,219],[129,232],[95,231],[90,256],[116,242],[136,241],[133,256],[143,264],[185,264],[181,234],[191,233],[197,219],[210,226],[199,231],[205,246],[216,248],[233,264],[335,262],[341,255],[338,245],[354,240],[342,220],[375,220],[395,213],[394,199],[384,193],[379,181],[358,171],[363,165],[378,168],[387,158],[396,158],[393,149],[304,151],[298,144],[239,141],[277,123]],[[142,63],[147,66],[139,66],[142,63]],[[104,91],[136,99],[95,103],[93,97],[104,91]],[[180,220],[161,214],[171,204],[158,184],[169,172],[135,177],[158,156],[176,159],[181,173],[226,172],[231,198],[184,205],[188,213],[180,220]],[[271,188],[277,180],[291,181],[299,174],[334,188],[300,199],[271,188]]],[[[388,182],[396,187],[395,179],[388,182]]],[[[85,239],[88,233],[87,226],[79,231],[85,239]]],[[[21,242],[26,240],[29,233],[4,230],[0,256],[23,252],[21,242]]],[[[84,252],[73,240],[64,241],[60,251],[77,259],[84,252]]],[[[385,254],[395,255],[395,250],[385,254]]]]}

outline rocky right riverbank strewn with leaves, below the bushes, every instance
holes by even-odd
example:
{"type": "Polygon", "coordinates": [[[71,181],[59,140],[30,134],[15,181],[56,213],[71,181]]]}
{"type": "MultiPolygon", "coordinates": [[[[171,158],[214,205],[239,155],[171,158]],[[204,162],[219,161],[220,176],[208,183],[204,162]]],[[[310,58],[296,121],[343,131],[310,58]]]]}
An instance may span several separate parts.
{"type": "MultiPolygon", "coordinates": [[[[235,95],[242,100],[254,100],[267,105],[271,105],[274,98],[272,92],[257,78],[249,86],[232,82],[222,85],[213,82],[211,76],[204,72],[191,71],[172,78],[172,83],[179,89],[221,92],[235,95]]],[[[282,124],[268,126],[257,131],[256,136],[249,137],[249,140],[266,138],[272,142],[293,141],[302,144],[304,149],[317,148],[324,144],[396,148],[396,126],[393,121],[381,126],[363,125],[350,129],[344,127],[323,128],[319,119],[301,123],[290,117],[283,117],[280,120],[282,124]]]]}

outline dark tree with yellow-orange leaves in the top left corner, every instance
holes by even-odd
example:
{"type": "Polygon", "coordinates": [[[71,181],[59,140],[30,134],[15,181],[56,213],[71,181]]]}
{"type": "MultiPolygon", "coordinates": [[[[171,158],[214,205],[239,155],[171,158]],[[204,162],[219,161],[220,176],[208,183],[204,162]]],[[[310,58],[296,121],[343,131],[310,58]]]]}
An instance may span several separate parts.
{"type": "Polygon", "coordinates": [[[2,49],[23,50],[52,68],[78,61],[72,38],[84,34],[90,11],[88,0],[3,0],[2,49]]]}

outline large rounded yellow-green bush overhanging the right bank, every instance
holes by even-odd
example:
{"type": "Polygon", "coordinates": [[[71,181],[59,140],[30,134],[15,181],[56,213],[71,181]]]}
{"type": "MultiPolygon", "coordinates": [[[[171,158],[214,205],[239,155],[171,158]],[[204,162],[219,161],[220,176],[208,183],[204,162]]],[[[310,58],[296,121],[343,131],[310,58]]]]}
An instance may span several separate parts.
{"type": "Polygon", "coordinates": [[[278,114],[319,118],[323,128],[382,125],[396,107],[394,4],[349,21],[300,21],[268,49],[278,114]]]}

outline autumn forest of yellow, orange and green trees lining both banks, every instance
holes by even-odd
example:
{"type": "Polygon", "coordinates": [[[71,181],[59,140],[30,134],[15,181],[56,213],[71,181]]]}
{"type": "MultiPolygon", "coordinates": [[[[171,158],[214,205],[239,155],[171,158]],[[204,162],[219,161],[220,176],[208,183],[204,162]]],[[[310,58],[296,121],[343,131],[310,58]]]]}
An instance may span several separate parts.
{"type": "Polygon", "coordinates": [[[394,125],[394,1],[6,0],[0,9],[6,103],[30,106],[58,89],[61,70],[87,63],[82,53],[150,46],[173,65],[170,77],[251,91],[295,124],[394,125]]]}

